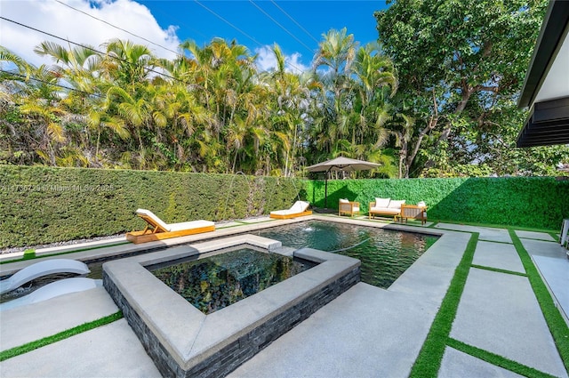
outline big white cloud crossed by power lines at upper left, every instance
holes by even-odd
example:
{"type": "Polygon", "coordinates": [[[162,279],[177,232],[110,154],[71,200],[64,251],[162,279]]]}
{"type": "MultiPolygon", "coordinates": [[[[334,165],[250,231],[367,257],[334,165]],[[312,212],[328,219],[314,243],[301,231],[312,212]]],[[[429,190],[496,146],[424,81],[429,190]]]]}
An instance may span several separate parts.
{"type": "MultiPolygon", "coordinates": [[[[78,44],[91,44],[100,50],[100,44],[110,39],[128,39],[136,44],[147,45],[157,56],[172,59],[178,51],[180,40],[176,27],[161,28],[154,16],[144,5],[132,0],[2,0],[0,14],[9,20],[31,28],[42,30],[53,36],[68,38],[78,44]],[[66,6],[105,20],[118,28],[95,20],[88,15],[66,6]],[[147,39],[146,41],[136,36],[147,39]],[[148,42],[149,41],[149,42],[148,42]],[[152,44],[154,43],[154,44],[152,44]],[[160,47],[156,44],[159,44],[160,47]]],[[[34,52],[37,44],[53,41],[62,46],[75,47],[59,38],[2,20],[0,22],[0,44],[23,59],[35,65],[51,64],[52,61],[34,52]]]]}

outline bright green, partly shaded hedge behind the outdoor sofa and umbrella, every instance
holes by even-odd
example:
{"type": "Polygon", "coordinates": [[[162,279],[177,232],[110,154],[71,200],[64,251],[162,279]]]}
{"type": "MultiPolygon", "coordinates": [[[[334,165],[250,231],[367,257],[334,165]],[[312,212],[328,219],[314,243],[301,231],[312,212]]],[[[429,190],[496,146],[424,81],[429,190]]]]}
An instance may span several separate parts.
{"type": "MultiPolygon", "coordinates": [[[[310,203],[324,207],[325,181],[306,188],[310,203]]],[[[328,181],[329,208],[349,198],[367,212],[375,197],[425,201],[429,219],[437,221],[558,230],[569,218],[569,181],[554,177],[328,181]]]]}

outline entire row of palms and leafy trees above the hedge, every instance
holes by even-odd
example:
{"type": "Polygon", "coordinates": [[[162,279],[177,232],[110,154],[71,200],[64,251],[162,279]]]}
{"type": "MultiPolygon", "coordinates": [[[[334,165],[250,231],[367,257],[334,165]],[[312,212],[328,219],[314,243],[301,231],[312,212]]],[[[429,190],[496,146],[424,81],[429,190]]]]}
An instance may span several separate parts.
{"type": "Polygon", "coordinates": [[[236,41],[173,60],[110,40],[0,47],[0,164],[293,176],[345,156],[373,177],[551,174],[566,146],[516,149],[517,109],[546,0],[399,0],[379,43],[329,30],[307,72],[262,71],[236,41]],[[4,69],[9,67],[9,69],[4,69]]]}

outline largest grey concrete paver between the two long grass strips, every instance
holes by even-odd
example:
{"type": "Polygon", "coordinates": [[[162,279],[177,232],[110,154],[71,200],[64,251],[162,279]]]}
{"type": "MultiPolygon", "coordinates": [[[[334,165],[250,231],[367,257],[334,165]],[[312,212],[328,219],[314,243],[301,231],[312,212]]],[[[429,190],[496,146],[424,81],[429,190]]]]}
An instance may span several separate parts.
{"type": "Polygon", "coordinates": [[[470,269],[451,337],[567,377],[527,277],[470,269]]]}

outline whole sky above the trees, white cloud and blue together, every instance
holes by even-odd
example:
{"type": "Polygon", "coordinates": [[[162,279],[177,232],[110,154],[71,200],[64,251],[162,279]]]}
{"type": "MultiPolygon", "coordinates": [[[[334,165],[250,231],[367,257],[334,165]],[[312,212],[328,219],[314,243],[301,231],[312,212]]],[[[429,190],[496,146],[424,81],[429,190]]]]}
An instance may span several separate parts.
{"type": "Polygon", "coordinates": [[[384,0],[0,1],[0,15],[8,19],[0,22],[0,44],[36,65],[50,64],[33,52],[46,40],[99,47],[111,38],[131,39],[172,58],[180,42],[193,39],[204,45],[219,36],[259,54],[262,69],[273,64],[269,48],[275,43],[289,67],[308,68],[322,35],[331,28],[347,28],[360,44],[376,41],[373,12],[388,6],[384,0]]]}

